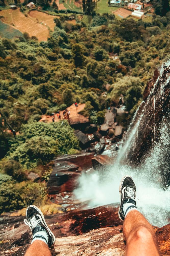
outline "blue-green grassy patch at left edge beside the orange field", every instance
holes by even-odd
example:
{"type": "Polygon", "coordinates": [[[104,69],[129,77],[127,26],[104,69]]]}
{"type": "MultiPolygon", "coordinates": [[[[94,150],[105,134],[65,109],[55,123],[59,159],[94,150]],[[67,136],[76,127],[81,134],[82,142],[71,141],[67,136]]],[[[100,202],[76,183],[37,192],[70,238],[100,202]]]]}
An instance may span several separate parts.
{"type": "Polygon", "coordinates": [[[18,29],[12,28],[0,20],[0,37],[12,39],[17,36],[22,36],[22,33],[18,29]]]}

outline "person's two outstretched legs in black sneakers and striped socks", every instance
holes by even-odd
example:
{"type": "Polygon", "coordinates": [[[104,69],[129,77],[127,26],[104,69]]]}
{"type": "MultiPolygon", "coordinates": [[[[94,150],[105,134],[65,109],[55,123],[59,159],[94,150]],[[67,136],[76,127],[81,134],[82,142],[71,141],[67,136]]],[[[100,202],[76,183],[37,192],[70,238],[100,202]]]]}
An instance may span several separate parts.
{"type": "MultiPolygon", "coordinates": [[[[120,186],[119,218],[124,221],[126,256],[159,256],[153,227],[136,207],[136,186],[130,176],[122,178],[120,186]]],[[[25,256],[51,256],[49,250],[55,244],[55,236],[48,228],[44,215],[38,207],[30,205],[24,223],[32,231],[33,239],[25,256]]],[[[90,254],[91,255],[91,254],[90,254]]],[[[116,254],[115,254],[116,255],[116,254]]]]}

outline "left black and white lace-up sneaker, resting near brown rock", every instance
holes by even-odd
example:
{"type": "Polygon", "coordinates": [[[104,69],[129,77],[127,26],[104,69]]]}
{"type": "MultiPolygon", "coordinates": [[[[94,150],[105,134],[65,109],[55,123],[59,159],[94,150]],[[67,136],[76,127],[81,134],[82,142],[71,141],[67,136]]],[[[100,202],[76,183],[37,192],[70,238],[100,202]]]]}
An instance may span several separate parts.
{"type": "Polygon", "coordinates": [[[54,245],[56,238],[54,234],[51,232],[51,230],[48,228],[44,219],[44,215],[42,211],[38,209],[38,207],[36,207],[35,205],[28,206],[26,210],[26,219],[24,220],[24,223],[30,227],[32,234],[37,226],[43,227],[48,235],[49,248],[54,245]]]}

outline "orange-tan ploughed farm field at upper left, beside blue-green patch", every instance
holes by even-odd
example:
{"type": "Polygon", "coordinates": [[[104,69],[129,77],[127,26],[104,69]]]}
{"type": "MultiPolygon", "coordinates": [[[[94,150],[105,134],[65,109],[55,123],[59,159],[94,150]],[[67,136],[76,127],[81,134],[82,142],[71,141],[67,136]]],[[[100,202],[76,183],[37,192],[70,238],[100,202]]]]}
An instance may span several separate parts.
{"type": "MultiPolygon", "coordinates": [[[[36,12],[36,11],[32,11],[36,12]]],[[[30,36],[36,36],[38,38],[38,41],[46,41],[49,37],[49,30],[48,27],[50,27],[51,30],[54,30],[54,17],[45,13],[37,12],[37,16],[39,18],[39,22],[44,21],[44,24],[38,23],[37,19],[34,16],[35,14],[28,15],[28,17],[25,17],[23,13],[17,10],[2,10],[1,16],[4,16],[2,18],[2,22],[8,24],[8,25],[14,25],[14,28],[20,30],[22,33],[27,32],[30,36]],[[43,21],[42,21],[43,20],[43,21]],[[46,26],[45,26],[46,24],[46,26]],[[49,24],[49,25],[48,25],[49,24]]]]}

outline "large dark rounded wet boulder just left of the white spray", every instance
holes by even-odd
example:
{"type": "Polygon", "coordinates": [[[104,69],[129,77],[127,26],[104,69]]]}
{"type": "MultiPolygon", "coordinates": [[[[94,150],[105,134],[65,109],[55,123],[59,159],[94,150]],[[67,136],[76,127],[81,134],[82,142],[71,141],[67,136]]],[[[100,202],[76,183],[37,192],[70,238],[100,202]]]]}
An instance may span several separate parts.
{"type": "Polygon", "coordinates": [[[47,183],[48,193],[71,192],[77,185],[81,168],[71,162],[55,162],[53,172],[47,183]]]}

